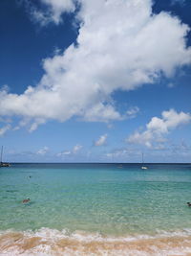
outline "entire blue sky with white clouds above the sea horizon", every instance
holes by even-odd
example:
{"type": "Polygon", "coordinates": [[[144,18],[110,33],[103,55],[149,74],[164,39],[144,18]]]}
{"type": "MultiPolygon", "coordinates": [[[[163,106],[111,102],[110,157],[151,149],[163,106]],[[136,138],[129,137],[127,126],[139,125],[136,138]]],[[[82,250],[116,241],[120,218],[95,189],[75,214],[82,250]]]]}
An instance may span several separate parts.
{"type": "Polygon", "coordinates": [[[191,162],[190,0],[1,0],[10,162],[191,162]]]}

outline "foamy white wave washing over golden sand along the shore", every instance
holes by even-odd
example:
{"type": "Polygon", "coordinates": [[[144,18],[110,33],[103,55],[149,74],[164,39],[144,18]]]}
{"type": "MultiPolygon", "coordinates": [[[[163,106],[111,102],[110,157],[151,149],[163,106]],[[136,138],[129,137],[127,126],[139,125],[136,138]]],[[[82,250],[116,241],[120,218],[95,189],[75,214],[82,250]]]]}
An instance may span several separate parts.
{"type": "Polygon", "coordinates": [[[190,255],[191,230],[158,231],[155,236],[106,237],[98,233],[41,228],[35,232],[0,232],[2,256],[163,256],[190,255]]]}

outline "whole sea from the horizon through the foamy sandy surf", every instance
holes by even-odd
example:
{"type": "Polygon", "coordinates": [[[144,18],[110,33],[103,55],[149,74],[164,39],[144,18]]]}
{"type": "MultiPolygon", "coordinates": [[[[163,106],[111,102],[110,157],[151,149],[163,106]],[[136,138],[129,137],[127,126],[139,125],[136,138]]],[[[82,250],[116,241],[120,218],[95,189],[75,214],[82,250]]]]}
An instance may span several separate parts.
{"type": "Polygon", "coordinates": [[[191,164],[145,166],[0,168],[0,255],[191,255],[191,164]]]}

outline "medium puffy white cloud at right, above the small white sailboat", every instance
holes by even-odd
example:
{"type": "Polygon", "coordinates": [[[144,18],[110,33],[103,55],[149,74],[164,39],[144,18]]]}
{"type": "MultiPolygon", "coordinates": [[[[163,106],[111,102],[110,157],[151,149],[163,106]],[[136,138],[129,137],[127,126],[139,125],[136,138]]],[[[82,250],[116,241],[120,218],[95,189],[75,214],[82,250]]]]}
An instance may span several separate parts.
{"type": "MultiPolygon", "coordinates": [[[[159,144],[165,141],[164,135],[170,130],[185,125],[191,122],[191,114],[180,112],[174,109],[163,111],[161,118],[153,117],[146,125],[146,130],[143,132],[136,131],[127,138],[128,143],[142,144],[146,147],[152,147],[153,143],[159,144]]],[[[160,144],[161,146],[161,144],[160,144]]]]}

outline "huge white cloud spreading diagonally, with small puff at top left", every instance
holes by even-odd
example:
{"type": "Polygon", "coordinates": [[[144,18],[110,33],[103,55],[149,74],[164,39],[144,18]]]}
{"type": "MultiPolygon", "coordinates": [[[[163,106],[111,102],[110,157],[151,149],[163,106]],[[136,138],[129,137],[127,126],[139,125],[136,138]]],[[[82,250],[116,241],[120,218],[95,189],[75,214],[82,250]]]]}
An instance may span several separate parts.
{"type": "MultiPolygon", "coordinates": [[[[56,22],[61,13],[74,9],[72,1],[43,2],[51,6],[56,22]],[[62,8],[65,3],[68,7],[62,8]]],[[[190,64],[188,26],[167,12],[153,14],[150,0],[78,2],[76,44],[44,60],[45,73],[35,87],[20,95],[2,89],[1,116],[29,118],[31,130],[37,128],[38,120],[123,120],[112,100],[115,91],[135,90],[190,64]]]]}

